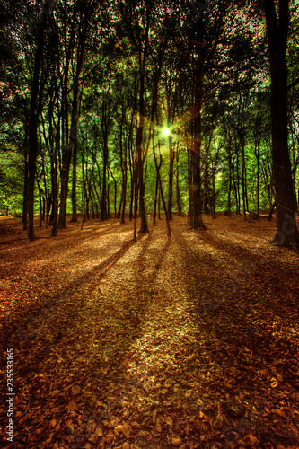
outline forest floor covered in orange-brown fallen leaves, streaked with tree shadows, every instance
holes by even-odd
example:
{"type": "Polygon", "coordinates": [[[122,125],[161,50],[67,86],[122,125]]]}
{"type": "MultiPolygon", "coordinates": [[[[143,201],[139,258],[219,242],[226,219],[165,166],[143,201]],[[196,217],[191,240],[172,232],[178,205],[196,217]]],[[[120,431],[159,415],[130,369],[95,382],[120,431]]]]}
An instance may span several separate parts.
{"type": "Polygon", "coordinates": [[[299,447],[298,252],[269,244],[265,217],[205,223],[132,242],[132,222],[91,220],[28,242],[1,217],[4,447],[299,447]]]}

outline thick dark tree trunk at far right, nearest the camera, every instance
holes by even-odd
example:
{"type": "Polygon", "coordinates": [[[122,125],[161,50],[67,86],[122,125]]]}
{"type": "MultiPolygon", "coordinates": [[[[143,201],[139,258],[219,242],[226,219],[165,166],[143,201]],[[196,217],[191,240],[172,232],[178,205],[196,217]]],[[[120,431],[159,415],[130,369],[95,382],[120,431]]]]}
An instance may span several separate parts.
{"type": "Polygon", "coordinates": [[[268,54],[271,73],[272,159],[277,203],[277,233],[273,242],[279,246],[299,245],[295,221],[295,192],[288,153],[286,43],[289,26],[289,2],[263,0],[267,22],[268,54]]]}

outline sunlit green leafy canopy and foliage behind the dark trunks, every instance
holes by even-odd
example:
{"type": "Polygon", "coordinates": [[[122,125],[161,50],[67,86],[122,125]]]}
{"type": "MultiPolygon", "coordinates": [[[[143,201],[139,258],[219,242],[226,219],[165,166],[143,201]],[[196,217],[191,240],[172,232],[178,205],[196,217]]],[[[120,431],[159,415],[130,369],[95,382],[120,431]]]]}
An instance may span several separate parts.
{"type": "MultiPolygon", "coordinates": [[[[11,208],[20,210],[39,12],[33,11],[32,4],[4,3],[5,8],[2,6],[0,10],[0,21],[5,31],[0,33],[2,57],[5,59],[0,72],[0,102],[4,110],[0,117],[1,207],[9,203],[11,208]],[[21,13],[18,18],[20,27],[13,31],[12,18],[17,10],[21,13]]],[[[257,211],[258,195],[261,209],[267,210],[271,206],[275,192],[271,173],[265,23],[260,20],[259,8],[253,11],[251,4],[217,0],[212,3],[213,7],[210,5],[198,12],[192,4],[184,1],[176,5],[149,2],[150,24],[146,31],[143,1],[112,2],[102,4],[101,8],[97,8],[97,2],[89,5],[79,1],[74,4],[56,2],[54,13],[48,17],[45,55],[40,70],[44,92],[40,97],[37,176],[40,176],[45,198],[46,194],[48,197],[52,194],[53,161],[57,161],[58,185],[61,182],[64,145],[69,144],[74,132],[70,129],[70,120],[74,87],[78,83],[78,210],[84,211],[84,201],[88,197],[84,197],[85,190],[90,192],[90,201],[96,202],[100,210],[105,180],[110,191],[110,212],[114,213],[115,184],[119,208],[126,180],[128,212],[136,168],[140,77],[145,73],[142,152],[145,157],[146,210],[151,212],[154,209],[157,176],[153,142],[149,141],[151,130],[157,158],[159,160],[160,151],[163,158],[160,170],[163,192],[166,198],[169,195],[169,143],[162,135],[165,126],[171,130],[174,148],[173,210],[177,207],[177,174],[183,210],[187,212],[189,209],[192,185],[188,154],[196,139],[200,140],[202,197],[211,197],[214,189],[216,210],[227,209],[229,200],[232,210],[240,210],[242,189],[246,189],[246,207],[250,211],[257,211]],[[84,20],[84,14],[90,17],[90,21],[84,20]],[[146,32],[149,46],[144,67],[140,61],[146,32]],[[84,66],[76,79],[77,48],[84,33],[88,36],[84,66]],[[201,77],[201,96],[196,102],[198,74],[201,77]],[[156,83],[158,89],[154,97],[156,83]],[[62,125],[63,108],[67,109],[64,113],[66,115],[67,112],[69,136],[66,123],[62,125]],[[200,136],[194,136],[194,119],[198,115],[200,136]]],[[[298,17],[298,7],[291,3],[287,64],[291,93],[290,153],[295,190],[298,189],[296,167],[299,161],[298,17]]],[[[70,176],[68,212],[72,209],[71,191],[70,176]]]]}

